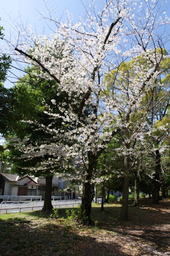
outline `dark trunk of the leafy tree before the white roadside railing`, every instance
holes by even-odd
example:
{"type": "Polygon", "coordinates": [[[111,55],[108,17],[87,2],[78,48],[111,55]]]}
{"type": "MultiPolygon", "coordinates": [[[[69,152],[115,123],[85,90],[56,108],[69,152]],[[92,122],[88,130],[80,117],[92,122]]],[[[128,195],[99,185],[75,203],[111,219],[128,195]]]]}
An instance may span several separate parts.
{"type": "Polygon", "coordinates": [[[48,175],[45,177],[45,196],[44,196],[44,203],[43,203],[43,211],[50,212],[53,208],[51,204],[51,194],[52,194],[52,179],[53,176],[48,175]]]}

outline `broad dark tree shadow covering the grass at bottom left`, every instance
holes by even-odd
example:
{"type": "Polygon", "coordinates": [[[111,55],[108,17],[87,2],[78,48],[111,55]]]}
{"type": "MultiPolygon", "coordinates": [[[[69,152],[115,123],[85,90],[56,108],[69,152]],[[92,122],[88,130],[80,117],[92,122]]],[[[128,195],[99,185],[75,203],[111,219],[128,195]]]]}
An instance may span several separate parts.
{"type": "Polygon", "coordinates": [[[69,226],[54,223],[39,226],[17,217],[0,220],[0,229],[1,256],[130,256],[117,243],[78,235],[69,226]]]}

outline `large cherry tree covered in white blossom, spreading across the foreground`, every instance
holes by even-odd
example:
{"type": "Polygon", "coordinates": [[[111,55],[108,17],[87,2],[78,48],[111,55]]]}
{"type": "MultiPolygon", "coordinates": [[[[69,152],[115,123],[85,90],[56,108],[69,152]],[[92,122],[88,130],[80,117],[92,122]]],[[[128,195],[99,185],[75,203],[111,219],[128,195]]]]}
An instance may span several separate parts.
{"type": "MultiPolygon", "coordinates": [[[[48,109],[45,113],[53,124],[62,120],[69,125],[67,130],[53,128],[55,137],[73,144],[42,144],[32,150],[23,147],[25,156],[55,152],[58,159],[75,158],[77,178],[83,182],[82,216],[90,221],[91,188],[95,182],[97,160],[110,140],[118,133],[125,132],[124,145],[119,148],[125,155],[125,184],[123,193],[122,219],[128,218],[128,158],[130,145],[142,127],[136,127],[129,134],[131,117],[140,112],[144,95],[151,90],[154,81],[160,76],[160,62],[165,58],[164,44],[168,40],[170,19],[164,12],[162,0],[119,0],[103,1],[103,8],[97,12],[95,1],[86,9],[86,18],[80,18],[73,24],[67,12],[66,22],[55,17],[45,17],[56,25],[56,32],[48,38],[32,33],[31,28],[23,31],[22,38],[15,45],[18,60],[37,65],[41,71],[39,77],[55,80],[59,92],[65,94],[65,102],[58,105],[61,114],[48,109]],[[161,32],[160,32],[161,31],[161,32]],[[160,49],[157,54],[156,49],[160,49]],[[57,58],[57,56],[62,57],[57,58]],[[136,56],[146,60],[143,66],[136,56]],[[116,88],[115,81],[119,68],[125,60],[133,61],[133,75],[129,77],[128,87],[123,84],[116,88]],[[106,74],[115,72],[111,88],[103,80],[106,74]],[[120,118],[121,117],[121,118],[120,118]]],[[[120,75],[120,73],[119,73],[120,75]]],[[[120,75],[121,76],[121,75],[120,75]]],[[[51,98],[51,102],[56,104],[51,98]]],[[[150,105],[148,105],[150,108],[150,105]]],[[[147,109],[146,109],[147,110],[147,109]]],[[[142,114],[144,117],[144,114],[142,114]]],[[[137,119],[137,118],[136,118],[137,119]]],[[[137,121],[136,121],[137,122],[137,121]]],[[[137,126],[137,124],[136,124],[137,126]]],[[[40,124],[41,127],[41,124],[40,124]]],[[[44,127],[50,132],[49,126],[44,127]]]]}

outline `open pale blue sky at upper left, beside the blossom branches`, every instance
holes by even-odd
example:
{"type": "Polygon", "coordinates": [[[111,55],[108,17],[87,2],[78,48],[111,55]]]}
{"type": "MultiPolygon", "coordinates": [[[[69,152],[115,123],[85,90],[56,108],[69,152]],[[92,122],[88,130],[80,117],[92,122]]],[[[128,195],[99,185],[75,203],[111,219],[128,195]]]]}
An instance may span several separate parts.
{"type": "MultiPolygon", "coordinates": [[[[73,21],[77,22],[79,16],[82,16],[84,13],[83,4],[89,6],[90,2],[90,0],[48,0],[47,5],[50,5],[51,9],[56,7],[58,18],[63,14],[64,10],[67,9],[73,14],[73,21]]],[[[101,0],[99,0],[99,2],[101,2],[101,0]]],[[[40,15],[39,12],[47,13],[43,0],[2,0],[0,25],[5,29],[4,35],[6,39],[9,38],[10,32],[14,31],[13,22],[20,23],[20,18],[23,24],[32,24],[32,29],[37,28],[38,32],[42,34],[45,21],[38,18],[38,15],[40,15]]],[[[46,28],[45,34],[50,32],[49,28],[46,28]]],[[[16,73],[16,70],[11,70],[16,73]]],[[[7,80],[5,86],[9,88],[12,84],[7,80]]]]}

